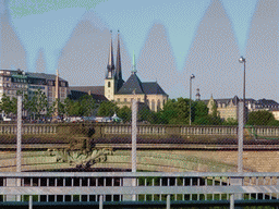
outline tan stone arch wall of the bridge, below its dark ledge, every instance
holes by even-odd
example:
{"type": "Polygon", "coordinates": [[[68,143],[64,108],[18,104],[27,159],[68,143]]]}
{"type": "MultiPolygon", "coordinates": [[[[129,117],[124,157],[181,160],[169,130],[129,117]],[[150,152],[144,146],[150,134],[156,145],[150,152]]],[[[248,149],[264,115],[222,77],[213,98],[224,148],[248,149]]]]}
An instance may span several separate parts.
{"type": "MultiPolygon", "coordinates": [[[[58,147],[58,146],[57,146],[58,147]]],[[[60,148],[66,147],[61,145],[60,148]]],[[[105,145],[96,145],[101,149],[105,145]]],[[[15,171],[15,150],[0,152],[0,172],[15,171]]],[[[22,171],[53,171],[58,169],[76,168],[69,162],[60,161],[57,156],[50,156],[46,149],[23,149],[22,171]]],[[[238,151],[223,149],[138,149],[137,170],[163,172],[236,172],[238,151]]],[[[245,150],[243,152],[245,172],[279,172],[279,151],[245,150]]],[[[131,168],[131,149],[118,148],[112,155],[107,155],[104,161],[92,168],[131,168]]]]}

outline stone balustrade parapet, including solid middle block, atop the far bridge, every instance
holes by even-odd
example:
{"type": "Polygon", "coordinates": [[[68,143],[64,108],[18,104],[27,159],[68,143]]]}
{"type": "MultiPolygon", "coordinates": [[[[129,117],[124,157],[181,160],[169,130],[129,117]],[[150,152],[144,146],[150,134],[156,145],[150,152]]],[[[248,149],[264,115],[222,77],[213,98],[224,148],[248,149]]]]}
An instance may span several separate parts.
{"type": "MultiPolygon", "coordinates": [[[[32,135],[73,134],[86,136],[94,130],[96,137],[110,135],[131,135],[131,124],[23,124],[22,133],[32,135]]],[[[0,135],[16,134],[16,124],[0,124],[0,135]]],[[[233,136],[238,135],[238,126],[214,125],[169,125],[169,124],[138,124],[137,134],[141,136],[233,136]]],[[[245,126],[246,136],[279,137],[278,126],[245,126]]]]}

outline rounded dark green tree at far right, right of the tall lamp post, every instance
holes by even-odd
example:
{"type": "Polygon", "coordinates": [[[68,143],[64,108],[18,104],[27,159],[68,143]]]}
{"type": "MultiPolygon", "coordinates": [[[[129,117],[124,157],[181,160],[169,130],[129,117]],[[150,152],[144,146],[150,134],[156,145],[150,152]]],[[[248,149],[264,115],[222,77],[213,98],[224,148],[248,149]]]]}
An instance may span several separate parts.
{"type": "Polygon", "coordinates": [[[248,113],[247,125],[268,125],[275,122],[275,116],[267,110],[253,111],[248,113]]]}

